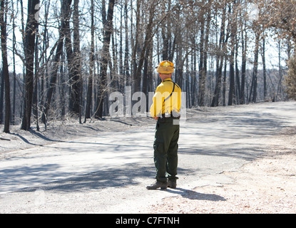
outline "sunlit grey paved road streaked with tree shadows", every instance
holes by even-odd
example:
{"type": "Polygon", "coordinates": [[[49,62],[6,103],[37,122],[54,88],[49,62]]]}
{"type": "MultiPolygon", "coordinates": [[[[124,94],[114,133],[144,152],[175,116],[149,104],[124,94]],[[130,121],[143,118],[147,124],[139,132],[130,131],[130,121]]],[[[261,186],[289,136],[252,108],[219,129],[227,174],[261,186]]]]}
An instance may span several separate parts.
{"type": "Polygon", "coordinates": [[[165,197],[232,182],[220,173],[259,157],[272,135],[296,125],[295,110],[295,102],[188,110],[176,190],[146,190],[154,125],[14,152],[0,161],[0,213],[145,213],[165,197]]]}

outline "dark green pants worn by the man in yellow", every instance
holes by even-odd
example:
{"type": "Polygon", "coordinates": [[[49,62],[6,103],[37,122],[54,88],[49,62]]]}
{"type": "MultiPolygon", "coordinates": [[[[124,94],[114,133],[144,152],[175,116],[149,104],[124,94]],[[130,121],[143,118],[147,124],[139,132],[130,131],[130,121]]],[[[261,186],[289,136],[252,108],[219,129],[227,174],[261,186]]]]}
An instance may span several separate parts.
{"type": "Polygon", "coordinates": [[[180,125],[174,125],[173,118],[158,119],[153,147],[155,178],[160,182],[177,179],[179,132],[180,125]]]}

